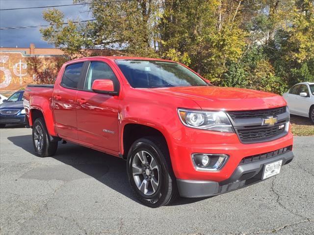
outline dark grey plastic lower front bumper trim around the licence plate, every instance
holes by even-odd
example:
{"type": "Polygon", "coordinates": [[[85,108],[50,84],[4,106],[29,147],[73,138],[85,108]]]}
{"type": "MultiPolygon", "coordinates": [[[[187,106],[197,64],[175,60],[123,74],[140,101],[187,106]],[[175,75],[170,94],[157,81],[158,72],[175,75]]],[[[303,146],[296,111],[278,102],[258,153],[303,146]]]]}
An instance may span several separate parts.
{"type": "Polygon", "coordinates": [[[182,197],[207,197],[242,188],[262,181],[265,164],[283,160],[282,165],[285,165],[293,157],[292,151],[288,151],[269,159],[239,164],[231,177],[221,182],[177,179],[179,193],[182,197]]]}

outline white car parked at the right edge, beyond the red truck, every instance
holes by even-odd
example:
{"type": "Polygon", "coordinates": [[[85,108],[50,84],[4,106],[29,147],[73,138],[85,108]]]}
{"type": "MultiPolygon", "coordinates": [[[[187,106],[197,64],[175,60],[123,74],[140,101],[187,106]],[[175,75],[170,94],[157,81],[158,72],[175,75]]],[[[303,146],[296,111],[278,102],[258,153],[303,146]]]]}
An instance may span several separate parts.
{"type": "Polygon", "coordinates": [[[307,117],[314,123],[314,82],[302,82],[283,94],[290,114],[307,117]]]}

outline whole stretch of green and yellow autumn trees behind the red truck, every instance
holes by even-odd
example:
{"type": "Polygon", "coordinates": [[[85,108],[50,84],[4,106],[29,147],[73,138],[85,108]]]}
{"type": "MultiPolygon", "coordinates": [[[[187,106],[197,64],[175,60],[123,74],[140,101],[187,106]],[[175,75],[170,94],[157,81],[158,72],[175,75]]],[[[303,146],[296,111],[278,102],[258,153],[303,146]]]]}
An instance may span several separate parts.
{"type": "Polygon", "coordinates": [[[91,2],[95,21],[44,11],[44,40],[70,57],[85,48],[180,61],[215,85],[283,93],[314,81],[313,0],[91,2]],[[67,24],[64,24],[67,23],[67,24]]]}

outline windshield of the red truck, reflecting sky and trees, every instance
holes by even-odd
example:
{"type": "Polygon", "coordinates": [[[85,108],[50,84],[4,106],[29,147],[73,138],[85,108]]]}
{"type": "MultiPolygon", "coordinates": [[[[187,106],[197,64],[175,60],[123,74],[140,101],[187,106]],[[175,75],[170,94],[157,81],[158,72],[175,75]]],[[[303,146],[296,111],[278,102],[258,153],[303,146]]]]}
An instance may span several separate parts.
{"type": "Polygon", "coordinates": [[[133,88],[211,86],[177,63],[120,59],[115,62],[133,88]]]}

